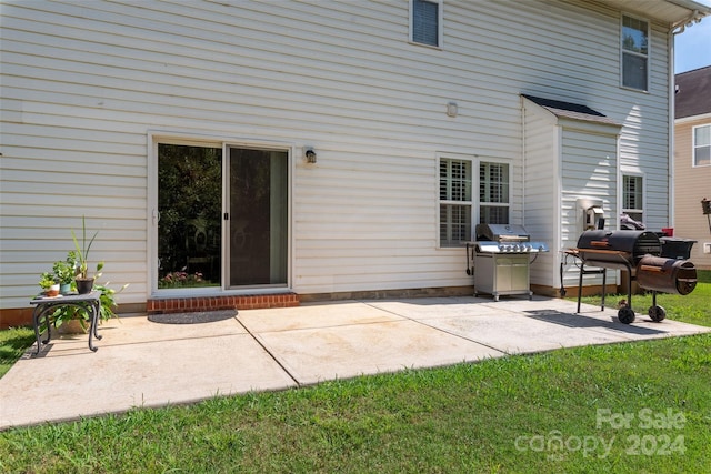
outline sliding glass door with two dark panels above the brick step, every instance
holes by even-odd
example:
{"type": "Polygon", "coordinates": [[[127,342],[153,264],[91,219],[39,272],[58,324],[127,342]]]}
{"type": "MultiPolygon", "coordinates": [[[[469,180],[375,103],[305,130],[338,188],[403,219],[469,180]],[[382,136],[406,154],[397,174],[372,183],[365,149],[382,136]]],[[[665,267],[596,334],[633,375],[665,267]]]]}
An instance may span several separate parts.
{"type": "Polygon", "coordinates": [[[282,150],[158,145],[158,289],[286,286],[282,150]]]}

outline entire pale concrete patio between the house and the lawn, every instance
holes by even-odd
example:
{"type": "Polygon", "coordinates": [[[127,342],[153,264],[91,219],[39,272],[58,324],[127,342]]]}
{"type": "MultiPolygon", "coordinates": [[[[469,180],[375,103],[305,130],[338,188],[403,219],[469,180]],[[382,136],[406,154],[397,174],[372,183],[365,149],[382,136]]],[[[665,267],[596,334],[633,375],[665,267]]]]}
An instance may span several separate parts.
{"type": "Polygon", "coordinates": [[[46,421],[280,390],[337,377],[711,332],[711,327],[544,297],[348,301],[240,311],[207,324],[144,315],[31,347],[0,379],[0,430],[46,421]]]}

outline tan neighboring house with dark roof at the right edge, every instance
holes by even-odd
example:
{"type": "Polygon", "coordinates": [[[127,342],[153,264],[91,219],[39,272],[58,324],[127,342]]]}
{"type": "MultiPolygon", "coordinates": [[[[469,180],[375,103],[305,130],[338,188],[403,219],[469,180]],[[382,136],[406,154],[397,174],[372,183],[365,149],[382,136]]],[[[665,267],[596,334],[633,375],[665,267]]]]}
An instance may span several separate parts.
{"type": "Polygon", "coordinates": [[[711,270],[711,67],[675,75],[674,235],[695,240],[691,261],[711,270]]]}

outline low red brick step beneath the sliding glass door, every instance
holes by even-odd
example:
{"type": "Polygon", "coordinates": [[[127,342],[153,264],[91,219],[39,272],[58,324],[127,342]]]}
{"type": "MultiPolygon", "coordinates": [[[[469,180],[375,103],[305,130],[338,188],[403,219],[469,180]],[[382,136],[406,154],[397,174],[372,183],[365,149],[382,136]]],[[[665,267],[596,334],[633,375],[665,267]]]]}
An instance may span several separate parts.
{"type": "Polygon", "coordinates": [[[299,295],[296,293],[252,294],[239,296],[193,296],[193,297],[161,297],[148,300],[146,312],[189,313],[194,311],[218,310],[261,310],[270,307],[299,306],[299,295]]]}

